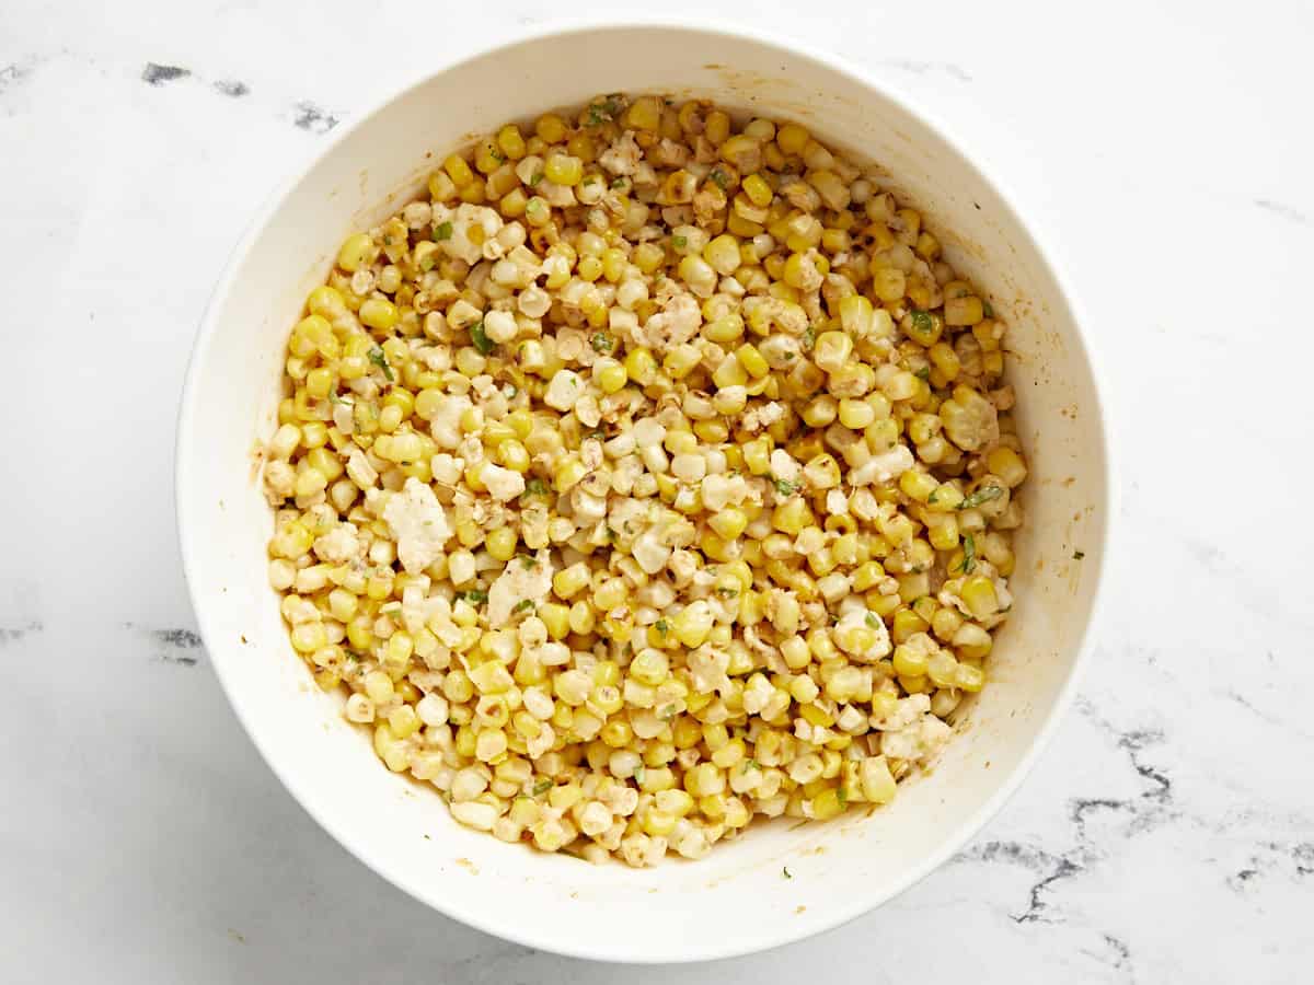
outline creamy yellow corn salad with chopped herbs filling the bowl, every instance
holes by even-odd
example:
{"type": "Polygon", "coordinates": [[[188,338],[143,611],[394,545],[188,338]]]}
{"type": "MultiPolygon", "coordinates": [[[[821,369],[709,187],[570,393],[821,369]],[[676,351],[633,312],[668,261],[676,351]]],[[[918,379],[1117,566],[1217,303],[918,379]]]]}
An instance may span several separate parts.
{"type": "Polygon", "coordinates": [[[292,645],[507,842],[649,865],[886,804],[1012,605],[1003,340],[798,123],[616,95],[503,126],[292,330],[292,645]]]}

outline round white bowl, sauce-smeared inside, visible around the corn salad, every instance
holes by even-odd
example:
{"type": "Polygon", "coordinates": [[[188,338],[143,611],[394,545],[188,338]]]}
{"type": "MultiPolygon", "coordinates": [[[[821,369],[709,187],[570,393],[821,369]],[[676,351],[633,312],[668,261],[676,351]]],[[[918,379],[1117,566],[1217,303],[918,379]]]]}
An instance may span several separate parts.
{"type": "Polygon", "coordinates": [[[683,961],[834,927],[953,855],[1022,779],[1067,707],[1112,516],[1095,373],[1072,305],[995,184],[905,100],[832,59],[737,29],[540,32],[444,68],[335,134],[238,247],[188,372],[177,444],[187,579],[233,707],[293,796],[367,865],[481,930],[561,953],[683,961]],[[252,449],[275,427],[288,332],[343,236],[407,201],[442,155],[507,120],[600,92],[702,96],[790,118],[876,162],[1010,326],[1031,465],[1016,616],[991,683],[930,775],[883,810],[774,822],[696,863],[637,871],[460,827],[389,774],[294,658],[265,579],[272,515],[252,449]],[[1075,559],[1075,552],[1084,559],[1075,559]],[[784,877],[788,867],[792,877],[784,877]]]}

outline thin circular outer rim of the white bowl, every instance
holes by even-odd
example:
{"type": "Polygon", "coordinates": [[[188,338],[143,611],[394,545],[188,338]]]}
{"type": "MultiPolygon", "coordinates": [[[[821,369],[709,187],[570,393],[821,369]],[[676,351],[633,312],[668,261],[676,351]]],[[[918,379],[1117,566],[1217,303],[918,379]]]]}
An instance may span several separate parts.
{"type": "Polygon", "coordinates": [[[481,41],[481,43],[463,51],[459,56],[439,58],[435,63],[426,66],[423,71],[409,76],[403,83],[389,87],[381,95],[377,95],[364,109],[355,114],[352,121],[342,127],[336,127],[327,142],[315,144],[310,151],[307,151],[300,164],[294,165],[288,176],[281,179],[275,185],[275,190],[267,196],[260,209],[255,213],[255,217],[247,225],[240,239],[229,253],[223,272],[215,282],[214,290],[210,293],[209,301],[206,302],[205,314],[201,318],[200,327],[193,341],[179,402],[179,420],[173,447],[175,520],[177,525],[179,548],[188,596],[192,602],[192,609],[196,613],[201,637],[206,641],[206,649],[210,654],[209,663],[219,680],[219,686],[227,697],[229,705],[233,708],[234,714],[240,722],[247,737],[251,739],[252,745],[256,747],[256,751],[260,754],[265,766],[268,766],[275,776],[277,776],[279,781],[292,795],[293,800],[297,801],[301,809],[305,810],[325,831],[327,831],[334,841],[346,848],[348,854],[355,856],[367,868],[372,869],[376,875],[397,886],[418,902],[422,902],[434,910],[438,910],[443,915],[464,923],[465,926],[474,927],[476,930],[505,940],[511,940],[539,951],[548,951],[569,957],[595,961],[618,961],[627,964],[685,964],[691,961],[737,957],[741,955],[774,950],[777,947],[783,947],[786,944],[838,929],[858,917],[875,910],[896,896],[907,892],[909,888],[930,875],[930,872],[940,868],[964,844],[975,838],[980,830],[1000,812],[1004,804],[1008,802],[1008,800],[1017,792],[1018,787],[1031,772],[1041,755],[1049,747],[1055,732],[1058,730],[1059,722],[1063,720],[1075,700],[1083,675],[1089,665],[1091,650],[1093,649],[1092,626],[1101,621],[1101,616],[1108,607],[1108,566],[1110,549],[1114,542],[1113,528],[1118,517],[1118,469],[1113,458],[1113,449],[1109,441],[1109,422],[1105,411],[1106,401],[1101,391],[1101,380],[1106,380],[1108,377],[1101,372],[1101,360],[1099,353],[1092,348],[1083,328],[1085,324],[1083,307],[1077,302],[1071,285],[1063,277],[1062,272],[1050,263],[1051,253],[1046,247],[1045,236],[1035,231],[1033,223],[1025,222],[1020,215],[1013,204],[1014,197],[1009,193],[1007,183],[999,180],[995,173],[984,167],[980,163],[979,155],[970,155],[957,139],[947,135],[947,131],[949,127],[941,123],[940,117],[920,105],[915,97],[884,81],[876,81],[869,72],[853,63],[849,58],[819,50],[809,43],[794,38],[786,38],[771,30],[744,28],[724,17],[704,16],[649,17],[614,14],[606,17],[568,17],[552,18],[543,24],[522,25],[512,30],[497,32],[495,39],[481,41]],[[281,771],[272,750],[256,738],[258,733],[252,728],[252,722],[248,721],[247,712],[235,699],[233,680],[225,670],[227,661],[223,657],[217,658],[218,650],[209,642],[217,641],[221,637],[218,633],[212,632],[210,619],[208,617],[208,604],[200,595],[197,587],[201,574],[198,566],[200,562],[197,559],[200,552],[193,545],[196,533],[193,532],[194,524],[191,520],[187,498],[191,482],[185,466],[188,458],[184,456],[185,443],[188,436],[194,429],[194,418],[198,410],[196,399],[198,380],[204,373],[210,348],[218,334],[218,314],[234,286],[237,273],[243,265],[243,261],[247,253],[250,253],[254,243],[264,235],[265,230],[284,206],[288,196],[301,181],[305,180],[310,171],[323,158],[335,151],[340,143],[356,131],[357,127],[365,125],[390,104],[413,93],[415,89],[427,85],[438,75],[452,71],[465,63],[527,42],[549,41],[574,34],[625,32],[636,29],[682,30],[695,34],[724,37],[728,39],[749,41],[766,49],[787,54],[791,58],[811,60],[829,71],[838,72],[846,76],[851,83],[855,83],[857,85],[890,100],[903,112],[908,113],[918,123],[930,130],[937,138],[943,141],[943,143],[959,156],[964,167],[974,171],[984,184],[993,189],[999,196],[1008,217],[1026,236],[1030,238],[1033,246],[1035,247],[1035,253],[1039,259],[1042,269],[1053,278],[1053,282],[1058,288],[1059,298],[1067,306],[1072,324],[1076,328],[1072,343],[1075,343],[1080,352],[1080,357],[1091,369],[1092,393],[1095,398],[1091,410],[1095,412],[1097,420],[1097,435],[1100,443],[1099,450],[1102,453],[1104,458],[1105,486],[1101,537],[1097,544],[1089,545],[1089,549],[1087,550],[1087,556],[1097,563],[1097,570],[1093,573],[1095,586],[1091,596],[1091,611],[1085,625],[1081,628],[1079,641],[1075,647],[1076,654],[1072,667],[1067,679],[1059,688],[1049,712],[1041,722],[1035,739],[1030,743],[1030,747],[1018,760],[1017,766],[1013,767],[1013,771],[1000,783],[989,799],[970,816],[961,818],[951,834],[936,851],[930,852],[920,865],[904,873],[899,880],[883,884],[879,892],[872,892],[867,896],[855,897],[849,901],[836,901],[834,906],[824,910],[820,908],[808,908],[807,914],[800,914],[788,923],[770,926],[763,925],[757,932],[727,938],[716,946],[696,947],[678,953],[671,953],[669,950],[661,947],[660,943],[649,944],[636,938],[618,938],[612,942],[599,940],[594,946],[577,940],[560,940],[539,932],[532,926],[498,925],[489,919],[484,919],[477,914],[466,913],[461,906],[461,897],[443,896],[442,893],[434,892],[430,886],[418,884],[411,880],[410,873],[406,869],[376,858],[368,844],[346,837],[334,818],[325,817],[307,805],[307,799],[302,796],[300,777],[281,771]]]}

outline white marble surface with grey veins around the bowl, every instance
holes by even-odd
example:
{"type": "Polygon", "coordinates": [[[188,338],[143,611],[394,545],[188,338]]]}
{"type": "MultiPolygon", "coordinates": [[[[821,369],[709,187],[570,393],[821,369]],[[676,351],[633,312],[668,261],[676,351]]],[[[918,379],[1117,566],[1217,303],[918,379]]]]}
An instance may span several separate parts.
{"type": "Polygon", "coordinates": [[[242,734],[179,570],[181,374],[255,206],[377,93],[551,5],[448,7],[0,5],[0,980],[1309,981],[1314,11],[763,4],[1049,231],[1110,372],[1121,550],[1076,711],[957,860],[817,939],[622,969],[339,848],[242,734]]]}

